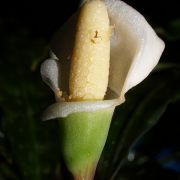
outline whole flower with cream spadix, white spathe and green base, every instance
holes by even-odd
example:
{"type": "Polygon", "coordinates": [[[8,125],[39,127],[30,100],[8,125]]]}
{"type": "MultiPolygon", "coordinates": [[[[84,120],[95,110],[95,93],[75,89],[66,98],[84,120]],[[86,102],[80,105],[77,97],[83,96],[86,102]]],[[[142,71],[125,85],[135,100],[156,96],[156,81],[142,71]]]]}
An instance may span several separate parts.
{"type": "Polygon", "coordinates": [[[41,75],[56,103],[43,119],[61,118],[62,153],[75,179],[93,178],[115,106],[163,50],[145,18],[119,0],[85,2],[55,35],[41,75]]]}

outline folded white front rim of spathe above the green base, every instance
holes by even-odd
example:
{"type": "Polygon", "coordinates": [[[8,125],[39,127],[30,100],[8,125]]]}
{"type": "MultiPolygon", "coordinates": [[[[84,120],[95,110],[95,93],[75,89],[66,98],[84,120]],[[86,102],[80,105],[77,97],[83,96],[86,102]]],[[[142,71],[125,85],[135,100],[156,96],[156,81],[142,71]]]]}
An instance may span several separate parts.
{"type": "Polygon", "coordinates": [[[82,101],[82,102],[59,102],[52,104],[44,112],[42,119],[44,121],[66,117],[75,112],[92,112],[106,108],[115,108],[118,105],[117,99],[104,101],[82,101]]]}

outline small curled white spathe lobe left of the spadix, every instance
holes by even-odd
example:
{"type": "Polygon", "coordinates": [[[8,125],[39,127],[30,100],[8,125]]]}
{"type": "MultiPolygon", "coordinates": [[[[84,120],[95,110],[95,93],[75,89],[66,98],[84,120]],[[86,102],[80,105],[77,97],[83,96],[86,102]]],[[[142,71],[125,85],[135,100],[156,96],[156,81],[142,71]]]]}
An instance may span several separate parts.
{"type": "Polygon", "coordinates": [[[43,81],[56,93],[59,89],[59,63],[54,59],[47,59],[41,64],[43,81]]]}

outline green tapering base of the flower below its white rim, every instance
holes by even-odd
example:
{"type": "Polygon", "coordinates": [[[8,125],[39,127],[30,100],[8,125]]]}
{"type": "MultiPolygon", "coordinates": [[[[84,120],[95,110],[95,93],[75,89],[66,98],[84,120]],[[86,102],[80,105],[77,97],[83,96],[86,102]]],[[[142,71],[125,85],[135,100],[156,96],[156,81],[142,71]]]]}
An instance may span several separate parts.
{"type": "Polygon", "coordinates": [[[62,154],[75,180],[93,179],[113,111],[77,112],[59,120],[62,154]]]}

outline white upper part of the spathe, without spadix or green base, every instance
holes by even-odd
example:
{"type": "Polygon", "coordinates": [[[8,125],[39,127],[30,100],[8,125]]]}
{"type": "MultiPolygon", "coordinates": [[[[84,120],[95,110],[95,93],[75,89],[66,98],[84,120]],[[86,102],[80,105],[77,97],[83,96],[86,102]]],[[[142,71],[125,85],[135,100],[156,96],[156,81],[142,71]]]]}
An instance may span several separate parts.
{"type": "MultiPolygon", "coordinates": [[[[125,93],[143,81],[157,65],[165,45],[145,18],[123,1],[104,0],[104,2],[107,6],[110,23],[114,27],[111,36],[107,100],[57,102],[45,111],[44,120],[66,117],[73,112],[115,107],[123,103],[125,93]]],[[[43,80],[55,93],[58,89],[68,92],[70,56],[77,14],[64,24],[53,40],[52,51],[59,61],[47,60],[48,63],[45,61],[41,66],[43,80]],[[57,73],[52,73],[54,70],[57,73]]]]}

